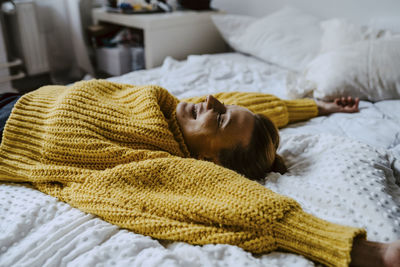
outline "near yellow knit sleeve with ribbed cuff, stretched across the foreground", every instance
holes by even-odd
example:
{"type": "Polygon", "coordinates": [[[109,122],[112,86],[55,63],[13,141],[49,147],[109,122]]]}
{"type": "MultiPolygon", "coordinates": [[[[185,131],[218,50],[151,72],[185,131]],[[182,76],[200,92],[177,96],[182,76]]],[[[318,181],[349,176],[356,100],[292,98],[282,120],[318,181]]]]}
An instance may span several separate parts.
{"type": "Polygon", "coordinates": [[[253,253],[283,249],[330,266],[347,266],[353,238],[365,235],[313,217],[293,199],[231,170],[167,154],[95,171],[81,183],[34,184],[139,234],[253,253]]]}

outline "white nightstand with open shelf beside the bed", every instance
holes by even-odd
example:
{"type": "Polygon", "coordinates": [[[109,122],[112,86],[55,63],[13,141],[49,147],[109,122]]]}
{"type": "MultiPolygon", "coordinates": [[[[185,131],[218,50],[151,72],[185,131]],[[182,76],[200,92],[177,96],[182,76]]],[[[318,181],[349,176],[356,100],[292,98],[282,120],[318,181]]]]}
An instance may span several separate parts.
{"type": "Polygon", "coordinates": [[[161,65],[167,56],[182,60],[191,54],[226,51],[211,15],[217,11],[174,11],[154,14],[109,13],[93,9],[95,24],[111,23],[143,31],[146,69],[161,65]]]}

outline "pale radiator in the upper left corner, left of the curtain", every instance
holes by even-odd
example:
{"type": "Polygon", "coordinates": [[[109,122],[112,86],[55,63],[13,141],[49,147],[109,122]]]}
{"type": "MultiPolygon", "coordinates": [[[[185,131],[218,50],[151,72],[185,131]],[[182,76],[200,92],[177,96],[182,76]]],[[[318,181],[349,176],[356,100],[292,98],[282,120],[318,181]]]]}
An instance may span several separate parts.
{"type": "Polygon", "coordinates": [[[28,75],[49,72],[46,37],[40,31],[34,1],[14,1],[16,20],[13,32],[28,75]]]}

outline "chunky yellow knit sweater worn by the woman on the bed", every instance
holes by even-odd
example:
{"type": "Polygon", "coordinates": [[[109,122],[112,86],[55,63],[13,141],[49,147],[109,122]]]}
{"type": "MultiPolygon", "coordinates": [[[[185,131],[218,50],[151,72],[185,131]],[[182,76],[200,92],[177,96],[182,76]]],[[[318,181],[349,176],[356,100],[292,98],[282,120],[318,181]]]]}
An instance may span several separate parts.
{"type": "MultiPolygon", "coordinates": [[[[222,93],[226,104],[278,126],[317,114],[312,100],[222,93]]],[[[200,98],[193,98],[199,101],[200,98]]],[[[0,146],[0,181],[37,189],[120,227],[191,244],[254,253],[300,253],[346,266],[355,236],[294,200],[213,163],[190,158],[175,118],[178,100],[158,86],[102,80],[46,86],[23,96],[0,146]]]]}

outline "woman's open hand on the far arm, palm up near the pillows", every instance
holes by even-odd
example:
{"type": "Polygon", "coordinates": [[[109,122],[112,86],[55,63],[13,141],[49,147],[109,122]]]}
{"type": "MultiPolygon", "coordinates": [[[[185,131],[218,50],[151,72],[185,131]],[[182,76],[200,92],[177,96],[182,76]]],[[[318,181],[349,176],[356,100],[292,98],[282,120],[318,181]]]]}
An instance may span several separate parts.
{"type": "Polygon", "coordinates": [[[329,115],[332,113],[343,112],[343,113],[354,113],[358,112],[358,104],[360,103],[360,99],[358,97],[352,98],[349,97],[340,97],[335,98],[333,102],[325,102],[325,101],[315,101],[318,106],[318,115],[329,115]]]}

